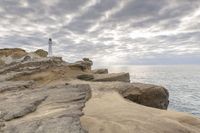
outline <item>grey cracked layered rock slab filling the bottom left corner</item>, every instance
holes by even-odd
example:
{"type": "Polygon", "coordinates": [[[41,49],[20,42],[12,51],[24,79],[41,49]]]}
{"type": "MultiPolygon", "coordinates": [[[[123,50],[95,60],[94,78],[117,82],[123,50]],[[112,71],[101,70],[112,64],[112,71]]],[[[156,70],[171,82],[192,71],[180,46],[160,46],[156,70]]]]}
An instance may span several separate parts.
{"type": "Polygon", "coordinates": [[[5,133],[85,133],[79,118],[90,88],[81,86],[5,92],[6,95],[0,95],[0,120],[4,125],[0,130],[5,133]]]}

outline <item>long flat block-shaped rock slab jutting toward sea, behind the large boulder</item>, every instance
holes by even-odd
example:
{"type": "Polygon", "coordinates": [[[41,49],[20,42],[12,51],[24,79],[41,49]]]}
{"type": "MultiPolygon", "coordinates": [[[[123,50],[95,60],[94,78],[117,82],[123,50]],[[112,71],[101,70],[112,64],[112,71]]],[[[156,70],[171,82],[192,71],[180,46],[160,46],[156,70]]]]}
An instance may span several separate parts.
{"type": "Polygon", "coordinates": [[[93,81],[121,81],[130,82],[129,73],[95,74],[93,81]]]}

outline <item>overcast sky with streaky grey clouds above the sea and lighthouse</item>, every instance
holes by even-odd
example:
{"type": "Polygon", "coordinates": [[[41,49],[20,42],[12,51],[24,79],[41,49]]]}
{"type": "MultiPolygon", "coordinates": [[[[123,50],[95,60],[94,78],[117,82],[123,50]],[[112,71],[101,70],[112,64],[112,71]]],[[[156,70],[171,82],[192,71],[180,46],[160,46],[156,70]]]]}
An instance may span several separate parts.
{"type": "Polygon", "coordinates": [[[96,65],[200,64],[200,0],[0,0],[0,48],[96,65]]]}

